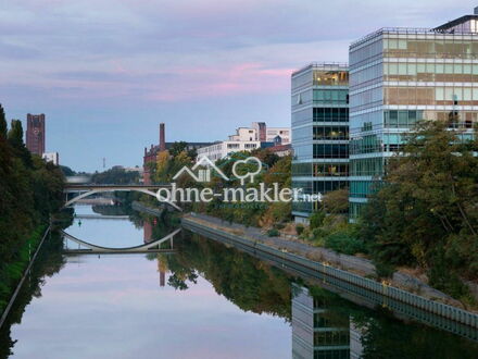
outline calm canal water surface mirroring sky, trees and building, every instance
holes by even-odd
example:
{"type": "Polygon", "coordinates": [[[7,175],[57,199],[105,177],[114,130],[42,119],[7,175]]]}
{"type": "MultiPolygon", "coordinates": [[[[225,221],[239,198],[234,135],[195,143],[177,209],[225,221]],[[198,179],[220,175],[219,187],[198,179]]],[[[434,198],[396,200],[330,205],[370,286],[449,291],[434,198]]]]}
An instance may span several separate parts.
{"type": "MultiPolygon", "coordinates": [[[[169,219],[75,212],[64,231],[102,247],[176,230],[169,219]]],[[[0,358],[478,357],[474,341],[358,306],[187,231],[173,251],[66,253],[65,243],[78,249],[59,231],[47,238],[0,331],[0,358]]]]}

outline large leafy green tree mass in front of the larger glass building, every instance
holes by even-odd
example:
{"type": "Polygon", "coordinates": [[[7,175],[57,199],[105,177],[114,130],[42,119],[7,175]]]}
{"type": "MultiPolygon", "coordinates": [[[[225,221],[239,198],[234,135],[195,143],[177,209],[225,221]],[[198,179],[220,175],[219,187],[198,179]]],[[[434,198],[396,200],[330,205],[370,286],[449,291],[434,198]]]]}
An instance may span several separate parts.
{"type": "MultiPolygon", "coordinates": [[[[390,159],[386,184],[372,196],[362,237],[377,260],[478,276],[478,148],[448,122],[425,121],[406,136],[406,156],[390,159]]],[[[435,275],[437,277],[437,275],[435,275]]]]}

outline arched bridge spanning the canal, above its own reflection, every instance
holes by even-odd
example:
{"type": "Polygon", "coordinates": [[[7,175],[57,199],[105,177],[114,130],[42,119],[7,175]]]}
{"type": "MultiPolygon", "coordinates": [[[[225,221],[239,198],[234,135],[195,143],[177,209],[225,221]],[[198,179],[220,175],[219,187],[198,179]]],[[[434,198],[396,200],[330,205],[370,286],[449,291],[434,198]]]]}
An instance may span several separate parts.
{"type": "MultiPolygon", "coordinates": [[[[158,198],[156,193],[161,188],[171,188],[169,184],[165,185],[95,185],[95,184],[74,184],[68,183],[66,184],[63,193],[66,195],[68,194],[78,194],[78,196],[66,200],[64,207],[72,206],[73,203],[77,202],[78,200],[95,195],[95,194],[102,194],[102,193],[111,193],[111,191],[139,191],[152,197],[158,198]]],[[[160,200],[160,199],[159,199],[160,200]]],[[[167,203],[178,211],[183,211],[180,207],[176,206],[176,203],[162,200],[162,202],[167,203]]]]}

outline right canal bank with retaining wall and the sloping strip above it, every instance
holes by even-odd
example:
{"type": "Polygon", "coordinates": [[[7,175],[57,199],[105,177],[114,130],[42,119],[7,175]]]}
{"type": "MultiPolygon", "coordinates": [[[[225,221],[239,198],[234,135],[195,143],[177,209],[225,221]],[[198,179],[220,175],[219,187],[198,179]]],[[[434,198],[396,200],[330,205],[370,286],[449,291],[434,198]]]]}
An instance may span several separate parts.
{"type": "Polygon", "coordinates": [[[399,273],[393,281],[401,281],[404,284],[419,283],[417,287],[413,287],[413,290],[404,288],[405,285],[401,287],[395,283],[377,282],[366,277],[375,274],[375,268],[367,259],[339,255],[324,248],[311,247],[280,237],[267,237],[259,228],[246,227],[194,213],[183,218],[183,226],[213,239],[237,245],[239,249],[242,248],[251,253],[260,253],[261,256],[257,257],[265,257],[280,265],[294,268],[297,272],[322,277],[327,282],[335,282],[342,289],[350,289],[373,298],[376,304],[387,301],[390,308],[402,307],[399,308],[402,312],[404,312],[403,307],[406,307],[407,314],[411,313],[418,320],[422,320],[422,317],[427,317],[428,323],[449,321],[446,324],[431,323],[432,325],[446,330],[446,325],[451,325],[450,322],[458,323],[462,326],[454,331],[455,333],[466,332],[468,334],[463,335],[478,339],[476,332],[478,315],[476,313],[454,306],[455,300],[450,300],[449,296],[405,273],[399,273]],[[319,258],[316,258],[317,256],[319,258]],[[360,272],[361,274],[358,274],[360,272]],[[417,292],[419,295],[416,294],[417,292]],[[413,313],[415,311],[418,314],[413,313]]]}

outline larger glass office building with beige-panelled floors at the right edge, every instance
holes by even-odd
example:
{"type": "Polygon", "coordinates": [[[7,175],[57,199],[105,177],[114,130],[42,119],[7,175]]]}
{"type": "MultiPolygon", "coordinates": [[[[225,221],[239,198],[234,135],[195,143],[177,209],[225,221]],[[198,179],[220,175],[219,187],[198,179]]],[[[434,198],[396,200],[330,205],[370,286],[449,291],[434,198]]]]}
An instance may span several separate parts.
{"type": "Polygon", "coordinates": [[[477,122],[478,15],[433,29],[382,28],[349,55],[353,220],[417,121],[448,120],[465,132],[477,122]]]}

